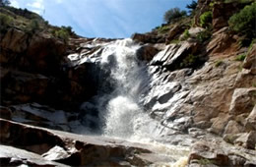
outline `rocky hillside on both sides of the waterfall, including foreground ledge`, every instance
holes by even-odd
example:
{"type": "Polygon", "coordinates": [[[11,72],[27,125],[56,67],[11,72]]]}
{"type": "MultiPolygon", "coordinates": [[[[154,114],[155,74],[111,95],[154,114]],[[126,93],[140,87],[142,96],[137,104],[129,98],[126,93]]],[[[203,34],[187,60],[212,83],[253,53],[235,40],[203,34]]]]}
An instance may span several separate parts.
{"type": "MultiPolygon", "coordinates": [[[[27,10],[0,11],[1,165],[178,160],[147,144],[69,134],[98,130],[94,102],[102,87],[114,89],[98,62],[115,39],[81,37],[27,10]]],[[[256,166],[255,11],[250,0],[198,0],[191,16],[132,36],[147,70],[138,104],[157,122],[154,140],[190,148],[180,151],[188,166],[256,166]]]]}

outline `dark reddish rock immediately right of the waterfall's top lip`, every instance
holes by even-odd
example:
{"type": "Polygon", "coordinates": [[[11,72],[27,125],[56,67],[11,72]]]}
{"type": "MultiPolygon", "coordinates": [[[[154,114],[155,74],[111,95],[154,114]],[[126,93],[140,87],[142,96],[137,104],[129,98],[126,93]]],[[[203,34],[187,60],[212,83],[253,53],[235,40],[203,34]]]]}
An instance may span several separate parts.
{"type": "Polygon", "coordinates": [[[159,50],[152,44],[146,44],[137,50],[136,55],[140,60],[150,62],[158,52],[159,50]]]}

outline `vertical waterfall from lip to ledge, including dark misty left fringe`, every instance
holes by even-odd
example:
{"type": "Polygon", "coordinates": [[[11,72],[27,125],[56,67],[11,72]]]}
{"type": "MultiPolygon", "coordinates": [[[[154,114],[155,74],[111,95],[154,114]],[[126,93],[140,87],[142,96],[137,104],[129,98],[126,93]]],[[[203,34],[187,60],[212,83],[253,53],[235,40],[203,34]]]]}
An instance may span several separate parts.
{"type": "MultiPolygon", "coordinates": [[[[94,124],[103,136],[129,139],[149,134],[147,124],[154,121],[139,105],[142,85],[149,81],[146,64],[136,56],[140,46],[128,38],[103,47],[98,65],[108,76],[100,79],[99,92],[93,102],[83,107],[97,110],[98,119],[94,124]]],[[[96,117],[88,115],[84,121],[94,119],[96,117]]]]}

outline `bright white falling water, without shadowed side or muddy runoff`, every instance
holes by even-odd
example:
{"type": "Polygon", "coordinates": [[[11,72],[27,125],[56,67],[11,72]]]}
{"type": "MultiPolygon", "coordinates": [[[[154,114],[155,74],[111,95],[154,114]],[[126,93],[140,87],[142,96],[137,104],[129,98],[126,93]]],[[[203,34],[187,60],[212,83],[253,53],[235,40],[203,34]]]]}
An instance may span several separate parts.
{"type": "Polygon", "coordinates": [[[114,90],[104,111],[106,113],[101,114],[104,115],[105,136],[129,139],[138,135],[143,124],[150,119],[138,105],[140,85],[147,70],[146,65],[137,60],[138,48],[131,39],[124,39],[110,44],[102,52],[102,66],[111,64],[111,60],[115,62],[110,68],[114,90]]]}

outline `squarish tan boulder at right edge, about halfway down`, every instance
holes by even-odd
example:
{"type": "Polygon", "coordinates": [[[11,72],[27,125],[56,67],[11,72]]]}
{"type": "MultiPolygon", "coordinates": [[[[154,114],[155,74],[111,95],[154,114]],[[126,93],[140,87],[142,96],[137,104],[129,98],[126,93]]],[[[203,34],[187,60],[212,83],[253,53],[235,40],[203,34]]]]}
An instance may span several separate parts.
{"type": "Polygon", "coordinates": [[[239,115],[249,113],[254,107],[256,100],[256,88],[236,88],[232,95],[229,114],[239,115]]]}

